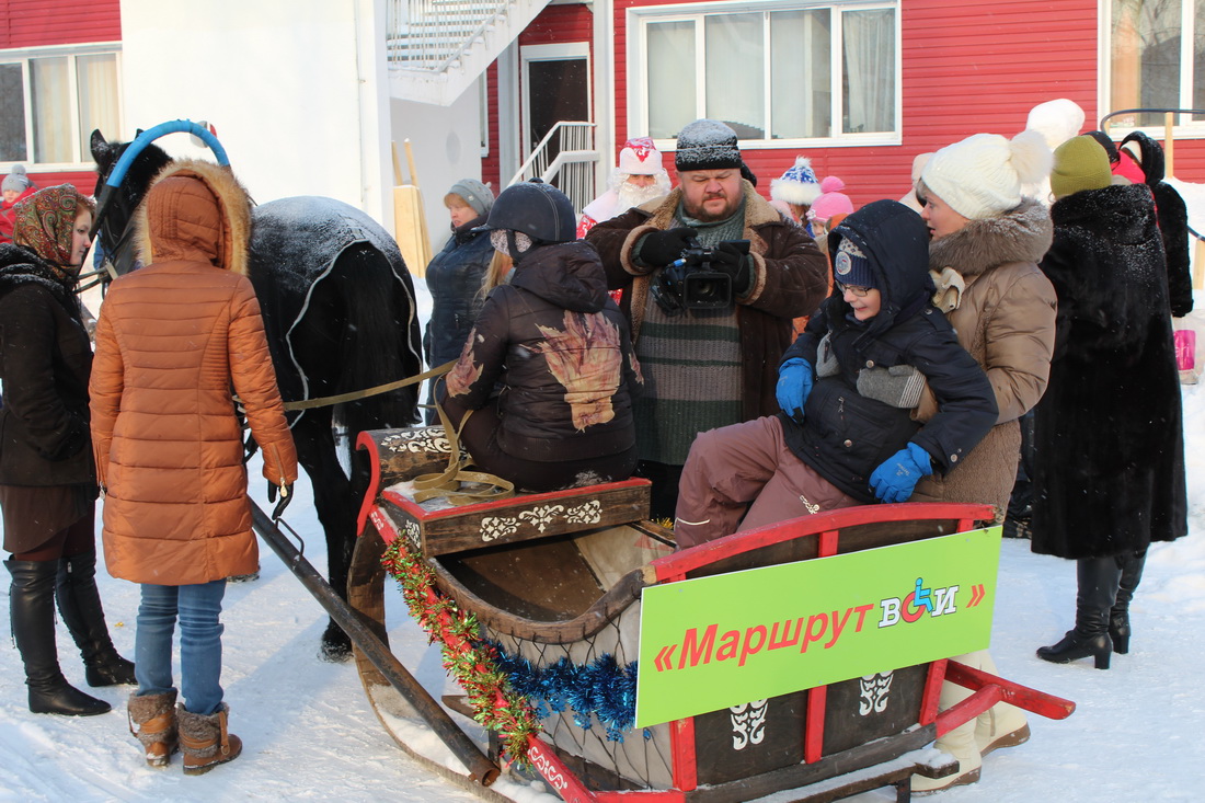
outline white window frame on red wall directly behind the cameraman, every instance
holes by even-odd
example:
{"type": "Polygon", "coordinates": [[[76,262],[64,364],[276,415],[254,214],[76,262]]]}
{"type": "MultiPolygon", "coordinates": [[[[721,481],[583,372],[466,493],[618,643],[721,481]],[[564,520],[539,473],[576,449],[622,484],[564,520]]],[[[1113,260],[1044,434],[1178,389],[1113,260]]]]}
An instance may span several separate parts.
{"type": "MultiPolygon", "coordinates": [[[[628,136],[645,136],[648,131],[647,87],[641,76],[648,75],[648,59],[645,48],[647,25],[649,23],[688,22],[695,23],[695,64],[692,69],[696,75],[704,75],[705,68],[705,30],[704,17],[717,13],[766,13],[774,11],[807,11],[830,8],[833,11],[833,48],[830,61],[833,76],[831,136],[794,137],[794,139],[742,139],[741,150],[782,150],[815,147],[870,147],[882,145],[901,145],[904,141],[904,84],[903,84],[903,35],[901,0],[731,0],[719,2],[694,2],[669,6],[640,6],[628,8],[627,29],[627,71],[628,71],[628,136]],[[874,131],[869,134],[846,134],[840,130],[842,119],[841,93],[841,30],[844,11],[874,11],[889,8],[895,12],[895,130],[874,131]]],[[[769,24],[768,22],[765,23],[769,24]]],[[[763,70],[769,72],[770,52],[764,51],[763,70]]],[[[703,81],[695,83],[695,109],[705,109],[706,87],[703,81]]],[[[770,109],[770,81],[764,82],[765,109],[770,109]]],[[[703,115],[700,113],[700,117],[703,115]]],[[[674,150],[671,139],[654,140],[660,150],[674,150]]]]}

